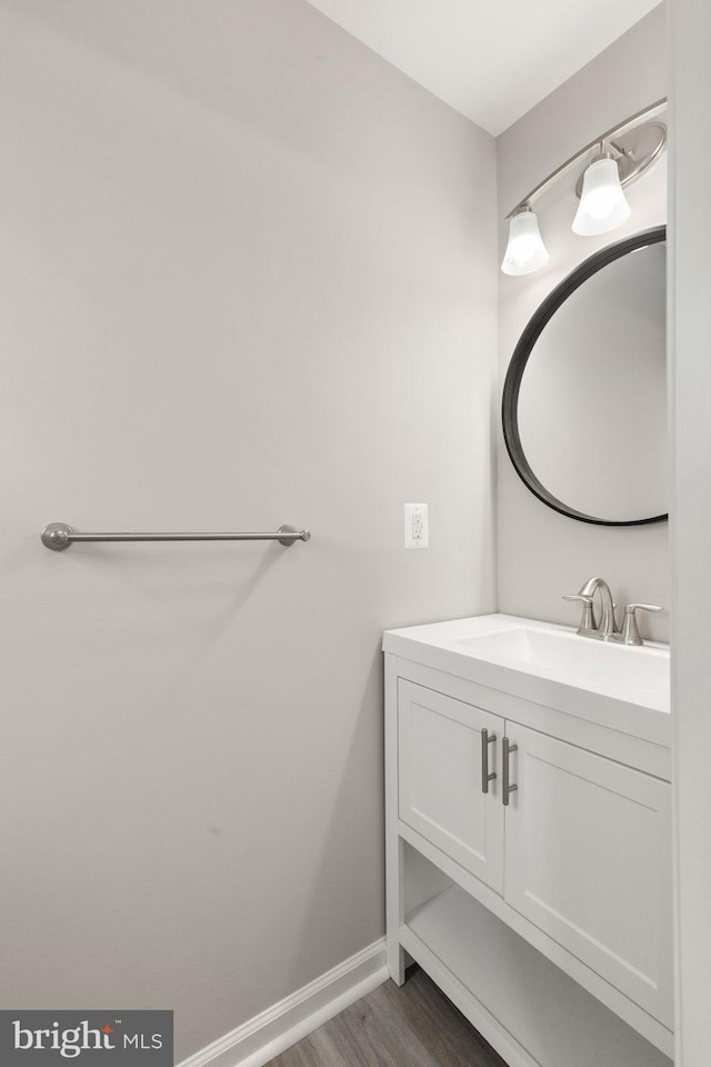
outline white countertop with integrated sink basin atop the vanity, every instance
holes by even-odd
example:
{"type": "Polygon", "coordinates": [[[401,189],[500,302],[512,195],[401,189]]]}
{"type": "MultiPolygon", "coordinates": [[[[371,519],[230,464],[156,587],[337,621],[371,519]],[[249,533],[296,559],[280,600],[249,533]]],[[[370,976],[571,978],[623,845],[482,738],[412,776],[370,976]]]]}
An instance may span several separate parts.
{"type": "Polygon", "coordinates": [[[389,630],[383,649],[549,708],[668,744],[669,646],[581,637],[505,615],[389,630]]]}

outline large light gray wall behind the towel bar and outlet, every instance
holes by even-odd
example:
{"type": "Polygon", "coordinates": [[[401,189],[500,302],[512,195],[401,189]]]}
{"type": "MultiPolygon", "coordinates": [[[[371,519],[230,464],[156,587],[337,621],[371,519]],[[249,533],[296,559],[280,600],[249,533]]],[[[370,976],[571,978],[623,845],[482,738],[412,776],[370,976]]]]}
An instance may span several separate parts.
{"type": "Polygon", "coordinates": [[[180,1058],[383,934],[381,631],[495,607],[494,146],[302,0],[2,0],[0,80],[0,1003],[180,1058]]]}

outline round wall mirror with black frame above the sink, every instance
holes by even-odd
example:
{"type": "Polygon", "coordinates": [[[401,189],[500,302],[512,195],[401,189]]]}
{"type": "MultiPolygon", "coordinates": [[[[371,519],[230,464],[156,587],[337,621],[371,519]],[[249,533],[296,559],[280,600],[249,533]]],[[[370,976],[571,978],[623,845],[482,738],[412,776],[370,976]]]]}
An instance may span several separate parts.
{"type": "Polygon", "coordinates": [[[611,245],[538,309],[503,388],[520,478],[581,522],[667,516],[665,228],[611,245]]]}

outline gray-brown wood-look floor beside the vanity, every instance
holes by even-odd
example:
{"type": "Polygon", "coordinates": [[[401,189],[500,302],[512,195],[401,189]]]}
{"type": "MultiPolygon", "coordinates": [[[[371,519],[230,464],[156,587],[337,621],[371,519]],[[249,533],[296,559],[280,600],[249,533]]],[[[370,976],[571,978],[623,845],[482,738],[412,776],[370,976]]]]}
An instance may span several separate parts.
{"type": "Polygon", "coordinates": [[[385,981],[267,1067],[507,1067],[423,970],[385,981]]]}

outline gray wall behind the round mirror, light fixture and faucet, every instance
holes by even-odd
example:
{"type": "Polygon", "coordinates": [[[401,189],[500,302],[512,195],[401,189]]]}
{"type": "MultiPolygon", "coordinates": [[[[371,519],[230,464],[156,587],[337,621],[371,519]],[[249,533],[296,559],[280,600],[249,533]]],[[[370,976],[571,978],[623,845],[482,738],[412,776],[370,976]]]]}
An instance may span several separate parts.
{"type": "MultiPolygon", "coordinates": [[[[664,97],[667,69],[665,10],[661,4],[497,139],[500,218],[588,141],[664,97]]],[[[614,233],[598,238],[581,238],[570,229],[578,203],[572,177],[535,205],[551,258],[545,268],[528,277],[500,275],[501,385],[517,340],[551,289],[611,241],[665,222],[665,178],[664,158],[629,188],[629,221],[614,233]]],[[[507,229],[501,222],[501,256],[507,229]]],[[[601,340],[603,329],[601,323],[601,340]]],[[[604,412],[591,410],[592,441],[603,425],[604,412]]],[[[502,440],[499,456],[499,609],[577,624],[577,609],[563,604],[561,596],[577,592],[587,578],[599,574],[610,582],[620,604],[643,600],[663,605],[663,614],[644,616],[641,621],[650,637],[668,640],[667,523],[605,528],[564,518],[523,486],[502,440]]]]}

